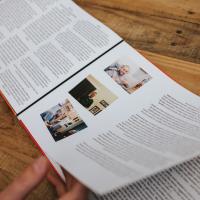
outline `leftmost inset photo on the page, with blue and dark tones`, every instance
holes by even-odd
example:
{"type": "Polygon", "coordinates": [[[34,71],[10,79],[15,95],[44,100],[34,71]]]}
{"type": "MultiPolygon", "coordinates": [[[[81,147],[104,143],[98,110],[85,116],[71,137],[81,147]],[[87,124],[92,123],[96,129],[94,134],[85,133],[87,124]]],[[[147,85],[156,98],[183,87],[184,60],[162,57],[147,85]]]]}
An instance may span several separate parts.
{"type": "Polygon", "coordinates": [[[42,113],[41,117],[56,142],[87,128],[68,99],[42,113]]]}

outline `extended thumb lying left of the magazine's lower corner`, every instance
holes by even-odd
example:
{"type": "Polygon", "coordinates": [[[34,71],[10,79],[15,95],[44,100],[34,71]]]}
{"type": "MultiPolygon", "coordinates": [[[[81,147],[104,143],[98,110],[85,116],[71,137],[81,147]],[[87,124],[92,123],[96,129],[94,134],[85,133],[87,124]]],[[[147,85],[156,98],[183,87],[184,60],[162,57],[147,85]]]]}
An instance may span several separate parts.
{"type": "Polygon", "coordinates": [[[0,199],[18,200],[25,198],[44,179],[48,169],[49,162],[45,157],[40,157],[0,194],[0,199]]]}

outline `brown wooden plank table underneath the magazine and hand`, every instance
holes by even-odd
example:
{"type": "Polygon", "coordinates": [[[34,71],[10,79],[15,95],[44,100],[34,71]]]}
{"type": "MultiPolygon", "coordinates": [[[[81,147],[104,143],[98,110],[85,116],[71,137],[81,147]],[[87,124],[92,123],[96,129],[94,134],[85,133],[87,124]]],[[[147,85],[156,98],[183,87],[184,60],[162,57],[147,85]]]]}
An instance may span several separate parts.
{"type": "MultiPolygon", "coordinates": [[[[174,80],[200,95],[199,0],[76,0],[174,80]]],[[[40,152],[0,98],[0,189],[40,152]]],[[[42,183],[28,199],[55,199],[42,183]]]]}

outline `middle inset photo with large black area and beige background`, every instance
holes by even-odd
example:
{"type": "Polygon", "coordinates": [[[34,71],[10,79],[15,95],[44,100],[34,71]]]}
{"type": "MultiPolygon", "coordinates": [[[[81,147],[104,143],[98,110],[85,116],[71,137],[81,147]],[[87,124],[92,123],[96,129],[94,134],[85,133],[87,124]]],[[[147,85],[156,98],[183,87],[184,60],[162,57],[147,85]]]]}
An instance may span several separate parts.
{"type": "Polygon", "coordinates": [[[93,115],[97,115],[117,99],[116,95],[91,75],[69,93],[93,115]]]}

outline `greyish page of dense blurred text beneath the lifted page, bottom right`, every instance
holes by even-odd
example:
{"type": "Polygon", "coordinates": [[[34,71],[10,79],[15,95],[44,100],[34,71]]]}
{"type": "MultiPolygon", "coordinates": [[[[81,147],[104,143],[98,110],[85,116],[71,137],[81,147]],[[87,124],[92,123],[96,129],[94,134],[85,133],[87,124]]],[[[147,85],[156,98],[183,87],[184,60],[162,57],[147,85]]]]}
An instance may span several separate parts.
{"type": "Polygon", "coordinates": [[[200,157],[136,184],[90,200],[199,200],[200,157]]]}

